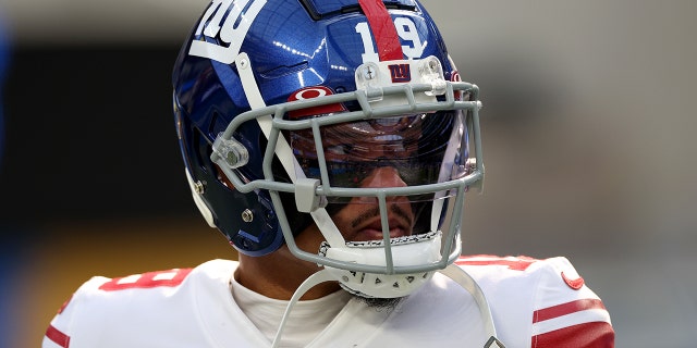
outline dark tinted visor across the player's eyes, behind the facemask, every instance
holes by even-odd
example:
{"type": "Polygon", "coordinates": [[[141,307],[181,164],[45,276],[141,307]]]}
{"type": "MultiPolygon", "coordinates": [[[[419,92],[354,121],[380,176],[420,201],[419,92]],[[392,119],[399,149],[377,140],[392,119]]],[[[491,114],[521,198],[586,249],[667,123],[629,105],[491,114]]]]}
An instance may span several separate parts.
{"type": "MultiPolygon", "coordinates": [[[[318,135],[306,128],[291,130],[288,136],[299,164],[296,170],[306,177],[321,179],[323,157],[329,185],[334,188],[441,183],[464,175],[458,169],[467,158],[467,132],[458,111],[337,123],[319,127],[318,135]],[[320,146],[316,145],[317,136],[321,139],[320,146]],[[374,175],[381,167],[391,169],[399,177],[374,175]]],[[[435,194],[414,195],[409,200],[432,200],[435,194]]],[[[329,197],[329,202],[339,201],[346,202],[329,197]]]]}

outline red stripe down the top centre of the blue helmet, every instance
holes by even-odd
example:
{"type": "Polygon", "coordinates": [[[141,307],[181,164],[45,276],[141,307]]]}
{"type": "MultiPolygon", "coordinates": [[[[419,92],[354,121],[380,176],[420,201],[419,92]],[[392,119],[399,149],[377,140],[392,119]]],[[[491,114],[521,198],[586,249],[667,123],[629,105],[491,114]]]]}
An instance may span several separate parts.
{"type": "Polygon", "coordinates": [[[400,37],[382,0],[358,0],[358,3],[368,17],[368,25],[375,37],[380,61],[402,59],[400,37]]]}

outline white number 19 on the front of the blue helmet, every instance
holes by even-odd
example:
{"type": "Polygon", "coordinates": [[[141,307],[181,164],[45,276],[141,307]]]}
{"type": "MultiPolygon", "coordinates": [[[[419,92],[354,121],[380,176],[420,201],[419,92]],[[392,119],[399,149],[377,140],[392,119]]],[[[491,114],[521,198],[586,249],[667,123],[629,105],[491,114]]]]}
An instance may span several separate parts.
{"type": "MultiPolygon", "coordinates": [[[[406,55],[407,59],[421,58],[426,46],[421,42],[421,38],[418,36],[416,24],[407,17],[396,17],[394,18],[394,27],[396,28],[396,34],[403,41],[411,42],[411,45],[402,46],[402,52],[404,52],[404,55],[406,55]]],[[[376,52],[368,23],[360,22],[356,24],[356,33],[360,34],[360,39],[363,40],[363,48],[365,50],[365,53],[362,54],[363,62],[379,61],[380,59],[376,52]]]]}

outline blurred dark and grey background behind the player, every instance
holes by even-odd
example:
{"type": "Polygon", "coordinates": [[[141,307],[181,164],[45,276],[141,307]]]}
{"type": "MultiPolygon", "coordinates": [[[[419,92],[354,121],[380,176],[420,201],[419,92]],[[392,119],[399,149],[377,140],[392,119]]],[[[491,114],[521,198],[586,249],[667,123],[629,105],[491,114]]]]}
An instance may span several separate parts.
{"type": "MultiPolygon", "coordinates": [[[[38,347],[93,275],[234,258],[191,201],[171,114],[207,3],[0,0],[1,347],[38,347]]],[[[566,256],[617,347],[695,347],[697,2],[424,3],[485,105],[465,252],[566,256]]]]}

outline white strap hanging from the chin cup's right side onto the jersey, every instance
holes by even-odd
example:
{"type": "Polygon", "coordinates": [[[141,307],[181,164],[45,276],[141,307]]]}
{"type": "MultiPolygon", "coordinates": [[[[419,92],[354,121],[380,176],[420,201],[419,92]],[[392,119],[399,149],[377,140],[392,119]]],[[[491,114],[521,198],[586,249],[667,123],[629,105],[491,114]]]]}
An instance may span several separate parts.
{"type": "Polygon", "coordinates": [[[485,325],[485,331],[487,333],[487,336],[489,336],[489,339],[484,345],[484,348],[489,348],[489,347],[505,348],[503,343],[501,343],[499,338],[497,338],[497,328],[493,324],[493,318],[491,316],[491,309],[489,309],[489,302],[487,301],[487,298],[484,296],[484,291],[481,290],[479,285],[477,285],[475,279],[473,279],[472,276],[467,274],[467,272],[465,272],[463,269],[458,268],[455,264],[451,264],[447,266],[444,270],[439,272],[444,274],[449,278],[453,279],[453,282],[457,283],[463,288],[465,288],[465,290],[467,290],[467,293],[469,293],[469,295],[472,295],[472,297],[475,299],[475,302],[477,302],[477,307],[479,307],[479,319],[485,325]]]}

